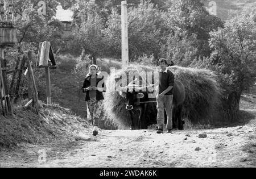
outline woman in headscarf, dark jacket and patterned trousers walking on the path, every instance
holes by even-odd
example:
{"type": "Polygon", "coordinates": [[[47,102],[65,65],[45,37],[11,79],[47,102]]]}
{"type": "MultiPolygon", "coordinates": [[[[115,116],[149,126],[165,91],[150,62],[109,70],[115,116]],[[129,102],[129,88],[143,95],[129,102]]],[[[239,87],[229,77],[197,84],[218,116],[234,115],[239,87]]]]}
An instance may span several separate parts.
{"type": "Polygon", "coordinates": [[[89,109],[90,116],[93,122],[93,135],[98,134],[98,126],[100,123],[100,114],[103,109],[103,94],[106,92],[104,84],[104,76],[98,76],[98,66],[90,65],[89,73],[87,74],[82,92],[86,93],[85,101],[89,109]]]}

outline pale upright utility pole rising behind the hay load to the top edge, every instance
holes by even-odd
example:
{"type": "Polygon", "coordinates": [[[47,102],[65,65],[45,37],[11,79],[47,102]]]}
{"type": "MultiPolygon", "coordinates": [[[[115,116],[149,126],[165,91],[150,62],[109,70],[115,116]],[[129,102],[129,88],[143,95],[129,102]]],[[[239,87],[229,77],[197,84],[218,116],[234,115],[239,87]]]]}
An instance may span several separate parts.
{"type": "Polygon", "coordinates": [[[122,26],[122,69],[129,65],[129,46],[128,46],[128,15],[127,2],[121,2],[121,26],[122,26]]]}

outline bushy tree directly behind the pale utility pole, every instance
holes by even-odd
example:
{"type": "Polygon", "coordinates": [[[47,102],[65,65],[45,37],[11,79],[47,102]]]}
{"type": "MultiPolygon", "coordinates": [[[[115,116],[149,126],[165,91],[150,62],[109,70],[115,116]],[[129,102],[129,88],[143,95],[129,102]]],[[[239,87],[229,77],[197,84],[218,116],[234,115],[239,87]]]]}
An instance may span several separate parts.
{"type": "MultiPolygon", "coordinates": [[[[161,44],[166,43],[172,31],[166,26],[163,12],[149,1],[128,9],[129,57],[136,59],[144,54],[158,59],[161,44]]],[[[109,53],[121,56],[121,16],[112,9],[104,32],[105,44],[109,53]]]]}

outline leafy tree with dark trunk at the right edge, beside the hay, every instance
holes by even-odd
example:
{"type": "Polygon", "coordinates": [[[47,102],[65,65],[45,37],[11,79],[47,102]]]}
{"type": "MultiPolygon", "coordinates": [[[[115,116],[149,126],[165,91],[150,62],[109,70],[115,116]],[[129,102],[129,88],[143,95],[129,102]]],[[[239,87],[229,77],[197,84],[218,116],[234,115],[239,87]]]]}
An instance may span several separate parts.
{"type": "Polygon", "coordinates": [[[228,94],[230,118],[236,118],[242,91],[253,85],[256,76],[256,7],[243,10],[227,20],[224,28],[210,32],[208,59],[228,94]]]}

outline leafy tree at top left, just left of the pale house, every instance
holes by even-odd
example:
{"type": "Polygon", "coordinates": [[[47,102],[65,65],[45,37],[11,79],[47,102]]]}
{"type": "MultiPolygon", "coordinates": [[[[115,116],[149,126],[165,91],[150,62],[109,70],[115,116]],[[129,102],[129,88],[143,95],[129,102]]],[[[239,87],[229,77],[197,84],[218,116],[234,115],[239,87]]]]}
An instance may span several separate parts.
{"type": "Polygon", "coordinates": [[[57,1],[46,2],[46,15],[38,15],[39,1],[15,1],[15,26],[17,28],[18,45],[30,44],[36,49],[40,41],[51,41],[52,47],[57,49],[61,45],[61,24],[54,19],[57,1]]]}

